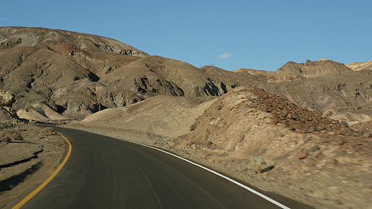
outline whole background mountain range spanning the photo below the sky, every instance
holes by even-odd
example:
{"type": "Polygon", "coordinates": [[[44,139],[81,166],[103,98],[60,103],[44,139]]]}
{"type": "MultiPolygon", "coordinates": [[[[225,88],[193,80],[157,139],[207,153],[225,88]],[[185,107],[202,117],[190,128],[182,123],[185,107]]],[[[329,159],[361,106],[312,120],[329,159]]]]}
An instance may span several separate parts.
{"type": "Polygon", "coordinates": [[[29,120],[83,119],[156,95],[221,96],[252,84],[350,124],[371,120],[369,62],[321,59],[288,62],[276,72],[230,72],[149,56],[110,38],[24,27],[1,27],[0,45],[0,88],[16,95],[13,109],[29,120]]]}

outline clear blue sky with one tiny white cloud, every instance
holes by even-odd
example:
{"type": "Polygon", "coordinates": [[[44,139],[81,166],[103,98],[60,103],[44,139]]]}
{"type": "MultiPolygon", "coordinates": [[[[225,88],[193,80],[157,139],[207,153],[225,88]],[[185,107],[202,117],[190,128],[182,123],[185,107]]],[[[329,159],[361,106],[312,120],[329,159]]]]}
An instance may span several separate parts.
{"type": "Polygon", "coordinates": [[[1,1],[0,26],[92,33],[197,67],[372,61],[372,1],[1,1]]]}

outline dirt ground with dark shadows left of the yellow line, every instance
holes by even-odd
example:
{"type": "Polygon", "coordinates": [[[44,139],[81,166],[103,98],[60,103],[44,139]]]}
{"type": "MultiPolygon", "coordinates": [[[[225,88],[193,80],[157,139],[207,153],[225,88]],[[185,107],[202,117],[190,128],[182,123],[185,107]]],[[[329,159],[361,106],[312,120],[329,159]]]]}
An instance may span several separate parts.
{"type": "Polygon", "coordinates": [[[47,135],[35,125],[20,124],[9,129],[22,140],[0,142],[0,208],[22,200],[43,183],[61,164],[66,144],[59,135],[47,135]]]}

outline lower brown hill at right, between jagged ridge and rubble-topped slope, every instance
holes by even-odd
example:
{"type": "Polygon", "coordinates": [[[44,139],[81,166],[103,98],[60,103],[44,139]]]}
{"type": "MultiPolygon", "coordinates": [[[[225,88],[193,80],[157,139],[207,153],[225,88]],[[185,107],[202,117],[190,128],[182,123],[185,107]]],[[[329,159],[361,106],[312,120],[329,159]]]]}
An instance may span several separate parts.
{"type": "Polygon", "coordinates": [[[372,120],[372,70],[258,84],[258,87],[323,116],[350,124],[372,120]]]}

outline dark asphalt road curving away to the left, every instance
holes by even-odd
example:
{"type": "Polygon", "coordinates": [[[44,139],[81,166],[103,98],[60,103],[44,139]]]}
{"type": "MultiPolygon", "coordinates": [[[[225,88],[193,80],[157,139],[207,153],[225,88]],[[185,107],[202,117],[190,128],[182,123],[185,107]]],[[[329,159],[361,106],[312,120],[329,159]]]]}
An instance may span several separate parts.
{"type": "MultiPolygon", "coordinates": [[[[70,158],[22,208],[278,208],[228,180],[161,151],[80,130],[55,128],[72,144],[70,158]]],[[[290,207],[306,208],[282,200],[290,207]]]]}

